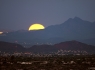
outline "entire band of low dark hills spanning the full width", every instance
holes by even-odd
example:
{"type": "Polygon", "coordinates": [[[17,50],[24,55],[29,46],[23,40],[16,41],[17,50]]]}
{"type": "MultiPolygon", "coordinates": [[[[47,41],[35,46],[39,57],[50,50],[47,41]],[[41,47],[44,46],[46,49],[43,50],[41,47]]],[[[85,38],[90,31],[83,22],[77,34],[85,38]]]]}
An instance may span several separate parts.
{"type": "Polygon", "coordinates": [[[87,45],[75,40],[57,43],[54,45],[33,45],[30,48],[15,43],[0,41],[1,52],[32,52],[32,53],[51,53],[58,50],[86,51],[95,54],[95,46],[87,45]]]}

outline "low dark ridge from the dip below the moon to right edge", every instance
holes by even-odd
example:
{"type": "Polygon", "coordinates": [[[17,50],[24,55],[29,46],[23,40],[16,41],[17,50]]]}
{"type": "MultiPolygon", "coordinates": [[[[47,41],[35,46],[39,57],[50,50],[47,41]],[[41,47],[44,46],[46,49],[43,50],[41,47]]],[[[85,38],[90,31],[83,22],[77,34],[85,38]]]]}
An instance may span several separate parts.
{"type": "Polygon", "coordinates": [[[89,53],[95,53],[95,46],[87,45],[78,41],[66,41],[55,45],[34,45],[28,50],[36,53],[49,53],[57,52],[58,50],[74,50],[74,51],[87,51],[89,53]]]}

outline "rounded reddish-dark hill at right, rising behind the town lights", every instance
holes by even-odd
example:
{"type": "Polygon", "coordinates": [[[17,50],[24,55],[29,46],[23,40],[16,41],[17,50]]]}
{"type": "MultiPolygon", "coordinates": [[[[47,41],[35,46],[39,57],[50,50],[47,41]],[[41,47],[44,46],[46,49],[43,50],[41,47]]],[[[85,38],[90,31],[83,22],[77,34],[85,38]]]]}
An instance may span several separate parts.
{"type": "Polygon", "coordinates": [[[61,42],[55,44],[54,46],[62,50],[80,50],[80,51],[87,51],[89,53],[95,53],[95,46],[87,45],[85,43],[81,43],[75,40],[61,42]]]}

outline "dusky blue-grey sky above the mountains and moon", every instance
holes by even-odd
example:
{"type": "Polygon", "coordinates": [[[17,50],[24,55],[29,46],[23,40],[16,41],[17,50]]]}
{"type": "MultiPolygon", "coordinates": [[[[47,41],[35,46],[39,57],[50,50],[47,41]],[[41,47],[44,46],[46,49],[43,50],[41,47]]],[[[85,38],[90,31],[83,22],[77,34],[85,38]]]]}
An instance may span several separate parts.
{"type": "Polygon", "coordinates": [[[95,21],[95,0],[0,0],[0,29],[28,29],[33,23],[45,27],[68,18],[95,21]]]}

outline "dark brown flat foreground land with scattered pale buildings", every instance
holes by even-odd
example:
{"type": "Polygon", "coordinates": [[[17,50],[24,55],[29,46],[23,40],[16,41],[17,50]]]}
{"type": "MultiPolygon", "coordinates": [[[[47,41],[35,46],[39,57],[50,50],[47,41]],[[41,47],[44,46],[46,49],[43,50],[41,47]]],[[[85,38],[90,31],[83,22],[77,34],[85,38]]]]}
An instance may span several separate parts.
{"type": "Polygon", "coordinates": [[[95,55],[0,56],[0,70],[95,70],[95,55]]]}

